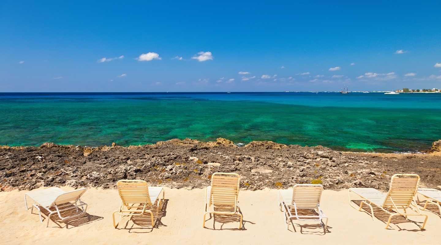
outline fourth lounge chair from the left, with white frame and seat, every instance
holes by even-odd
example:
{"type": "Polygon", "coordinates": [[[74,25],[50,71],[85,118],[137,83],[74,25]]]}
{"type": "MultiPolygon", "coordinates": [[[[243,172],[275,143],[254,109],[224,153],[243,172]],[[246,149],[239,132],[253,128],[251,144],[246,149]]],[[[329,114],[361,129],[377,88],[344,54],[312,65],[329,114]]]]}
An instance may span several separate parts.
{"type": "Polygon", "coordinates": [[[326,219],[323,228],[328,226],[328,217],[320,208],[320,197],[323,186],[316,184],[297,184],[293,189],[279,190],[278,199],[280,211],[284,212],[285,223],[289,229],[292,218],[301,221],[318,221],[321,226],[322,219],[326,219]],[[299,215],[299,210],[312,211],[311,215],[299,215]]]}

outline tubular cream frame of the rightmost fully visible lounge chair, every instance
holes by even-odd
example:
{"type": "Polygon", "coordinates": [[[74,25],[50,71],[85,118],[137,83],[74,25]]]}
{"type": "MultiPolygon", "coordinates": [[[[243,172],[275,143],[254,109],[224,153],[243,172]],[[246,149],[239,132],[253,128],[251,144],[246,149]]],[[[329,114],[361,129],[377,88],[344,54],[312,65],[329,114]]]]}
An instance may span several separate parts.
{"type": "Polygon", "coordinates": [[[390,181],[390,184],[389,184],[389,191],[386,194],[385,200],[383,201],[383,204],[381,206],[377,205],[377,204],[374,204],[369,199],[361,196],[358,193],[355,193],[353,190],[351,190],[353,188],[349,188],[348,189],[349,205],[352,208],[355,208],[351,204],[351,195],[350,195],[350,193],[352,192],[352,193],[355,193],[357,196],[359,196],[359,197],[364,199],[364,200],[362,200],[362,202],[361,202],[361,204],[360,204],[360,206],[358,208],[358,211],[361,211],[361,209],[363,208],[363,204],[366,204],[367,206],[370,207],[370,213],[371,213],[371,216],[372,216],[372,220],[374,220],[374,208],[372,207],[372,205],[377,206],[378,208],[381,208],[381,210],[383,210],[384,212],[389,214],[389,219],[388,219],[388,221],[386,223],[385,229],[389,228],[389,224],[390,224],[393,216],[399,216],[400,215],[400,216],[404,216],[406,219],[407,219],[407,216],[412,216],[412,215],[413,216],[416,216],[416,215],[418,215],[418,216],[426,216],[426,218],[424,219],[424,223],[422,224],[422,226],[420,228],[421,230],[424,230],[424,227],[426,226],[428,215],[424,215],[424,214],[422,214],[420,212],[420,209],[418,208],[418,205],[417,205],[417,203],[415,201],[415,195],[416,195],[417,190],[418,190],[418,185],[419,185],[419,175],[418,174],[394,174],[394,175],[392,175],[392,178],[391,178],[391,181],[390,181]],[[412,199],[407,203],[407,205],[396,205],[394,200],[393,200],[393,198],[391,197],[392,192],[394,192],[395,191],[394,189],[396,188],[396,187],[392,187],[392,184],[394,182],[394,178],[411,177],[411,176],[414,176],[414,177],[417,178],[417,183],[416,183],[416,186],[415,186],[415,190],[414,190],[414,192],[412,194],[412,199]],[[388,202],[388,199],[390,200],[392,205],[386,204],[388,202]],[[399,208],[403,209],[403,212],[400,212],[399,208]],[[407,208],[410,208],[415,213],[407,213],[407,211],[406,211],[407,208]],[[392,213],[390,211],[393,211],[394,213],[392,213]]]}

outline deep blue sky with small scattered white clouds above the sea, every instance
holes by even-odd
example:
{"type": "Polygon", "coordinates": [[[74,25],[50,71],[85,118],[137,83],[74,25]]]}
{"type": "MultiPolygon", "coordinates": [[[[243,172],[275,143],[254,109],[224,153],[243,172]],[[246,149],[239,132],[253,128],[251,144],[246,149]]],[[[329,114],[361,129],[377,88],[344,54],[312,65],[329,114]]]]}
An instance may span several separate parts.
{"type": "Polygon", "coordinates": [[[439,1],[159,2],[1,1],[0,91],[441,87],[439,1]]]}

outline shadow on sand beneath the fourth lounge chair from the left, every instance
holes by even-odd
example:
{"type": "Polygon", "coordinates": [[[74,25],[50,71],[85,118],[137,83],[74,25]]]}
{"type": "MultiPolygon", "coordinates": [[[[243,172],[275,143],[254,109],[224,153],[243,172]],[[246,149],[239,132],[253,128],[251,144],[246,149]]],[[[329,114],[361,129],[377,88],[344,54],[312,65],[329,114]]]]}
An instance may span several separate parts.
{"type": "MultiPolygon", "coordinates": [[[[318,213],[315,210],[312,209],[297,209],[298,215],[314,215],[318,216],[318,213]]],[[[317,218],[303,218],[303,219],[317,219],[317,218]]],[[[326,233],[331,233],[329,228],[332,229],[332,227],[327,226],[326,230],[323,228],[322,223],[318,223],[317,221],[311,221],[311,223],[308,223],[308,221],[298,221],[300,223],[295,223],[298,221],[296,218],[291,219],[291,226],[294,230],[289,230],[291,232],[297,232],[295,229],[295,225],[298,225],[300,227],[300,234],[310,234],[310,235],[320,235],[323,236],[326,233]]]]}

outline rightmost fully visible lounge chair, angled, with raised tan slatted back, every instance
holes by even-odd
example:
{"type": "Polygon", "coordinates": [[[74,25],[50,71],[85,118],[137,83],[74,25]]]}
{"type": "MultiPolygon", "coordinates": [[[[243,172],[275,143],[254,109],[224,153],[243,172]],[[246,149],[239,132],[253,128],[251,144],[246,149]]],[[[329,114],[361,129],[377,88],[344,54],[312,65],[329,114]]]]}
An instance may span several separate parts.
{"type": "Polygon", "coordinates": [[[421,226],[421,230],[423,230],[424,226],[426,226],[428,216],[420,212],[415,202],[415,194],[417,192],[418,184],[418,174],[394,174],[390,181],[388,193],[382,193],[374,188],[349,188],[349,205],[353,207],[350,196],[350,193],[352,192],[364,199],[360,204],[359,211],[361,211],[363,204],[370,207],[372,220],[374,220],[374,208],[372,206],[374,205],[381,208],[381,210],[389,214],[385,229],[389,228],[393,216],[401,215],[406,219],[409,215],[426,216],[424,223],[421,226]],[[407,213],[407,208],[410,208],[414,212],[407,213]],[[403,211],[400,212],[400,209],[403,211]]]}

